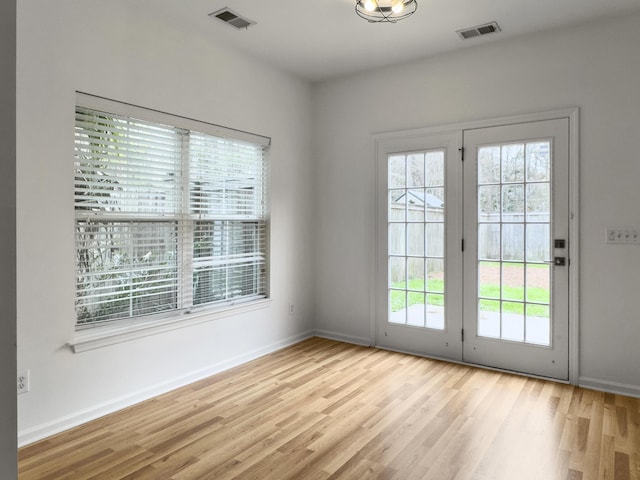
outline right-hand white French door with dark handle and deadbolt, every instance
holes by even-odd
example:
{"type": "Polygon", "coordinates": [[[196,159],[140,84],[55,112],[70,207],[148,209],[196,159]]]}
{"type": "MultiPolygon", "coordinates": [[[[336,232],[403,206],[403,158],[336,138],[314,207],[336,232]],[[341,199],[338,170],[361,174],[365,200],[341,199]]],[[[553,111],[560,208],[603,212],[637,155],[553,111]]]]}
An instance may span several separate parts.
{"type": "Polygon", "coordinates": [[[568,379],[568,132],[463,132],[466,362],[568,379]]]}

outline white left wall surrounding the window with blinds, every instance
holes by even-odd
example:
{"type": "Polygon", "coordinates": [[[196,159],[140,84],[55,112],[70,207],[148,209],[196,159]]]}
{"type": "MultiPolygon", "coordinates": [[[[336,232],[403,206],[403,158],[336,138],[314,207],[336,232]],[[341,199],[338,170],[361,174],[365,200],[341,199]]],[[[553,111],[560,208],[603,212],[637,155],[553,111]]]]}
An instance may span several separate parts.
{"type": "Polygon", "coordinates": [[[31,370],[31,391],[19,397],[21,443],[312,328],[310,85],[134,3],[19,2],[18,365],[31,370]],[[65,346],[75,322],[76,90],[272,137],[270,307],[80,354],[65,346]]]}

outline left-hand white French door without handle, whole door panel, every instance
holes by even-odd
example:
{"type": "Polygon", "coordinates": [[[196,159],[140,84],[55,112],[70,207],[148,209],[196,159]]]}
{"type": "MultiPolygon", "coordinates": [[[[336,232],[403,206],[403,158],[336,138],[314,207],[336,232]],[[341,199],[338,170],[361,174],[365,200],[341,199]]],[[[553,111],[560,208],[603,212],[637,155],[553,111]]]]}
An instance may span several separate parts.
{"type": "Polygon", "coordinates": [[[376,344],[459,360],[462,188],[457,132],[378,145],[376,344]]]}

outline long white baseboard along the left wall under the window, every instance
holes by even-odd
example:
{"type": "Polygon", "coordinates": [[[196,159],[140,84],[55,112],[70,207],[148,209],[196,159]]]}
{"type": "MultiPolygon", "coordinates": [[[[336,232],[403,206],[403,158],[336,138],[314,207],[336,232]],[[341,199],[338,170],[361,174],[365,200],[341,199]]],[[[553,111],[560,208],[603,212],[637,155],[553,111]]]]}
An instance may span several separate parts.
{"type": "Polygon", "coordinates": [[[314,333],[312,331],[307,331],[288,338],[283,338],[282,340],[271,343],[269,345],[265,345],[251,352],[237,355],[230,359],[215,363],[213,365],[209,365],[205,368],[198,369],[178,378],[173,378],[166,382],[162,382],[160,384],[138,390],[137,392],[134,392],[132,394],[125,395],[108,402],[101,403],[99,405],[95,405],[91,408],[74,412],[70,415],[60,417],[50,422],[42,423],[31,428],[20,430],[18,432],[18,447],[23,447],[38,440],[50,437],[51,435],[55,435],[56,433],[63,432],[91,420],[95,420],[118,410],[122,410],[123,408],[130,407],[132,405],[135,405],[136,403],[140,403],[158,395],[162,395],[163,393],[170,392],[171,390],[175,390],[176,388],[184,387],[193,382],[197,382],[198,380],[202,380],[204,378],[210,377],[211,375],[215,375],[216,373],[220,373],[230,368],[237,367],[238,365],[250,362],[251,360],[255,360],[256,358],[275,352],[276,350],[280,350],[281,348],[285,348],[306,340],[307,338],[311,338],[313,335],[314,333]]]}

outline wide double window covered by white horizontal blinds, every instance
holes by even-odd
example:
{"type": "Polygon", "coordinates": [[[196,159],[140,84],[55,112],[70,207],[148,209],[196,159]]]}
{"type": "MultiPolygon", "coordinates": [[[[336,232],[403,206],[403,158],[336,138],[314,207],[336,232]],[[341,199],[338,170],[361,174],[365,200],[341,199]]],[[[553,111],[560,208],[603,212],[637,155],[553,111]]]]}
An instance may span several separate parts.
{"type": "Polygon", "coordinates": [[[77,327],[267,297],[268,139],[85,97],[75,120],[77,327]]]}

